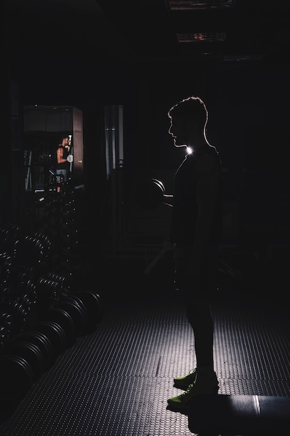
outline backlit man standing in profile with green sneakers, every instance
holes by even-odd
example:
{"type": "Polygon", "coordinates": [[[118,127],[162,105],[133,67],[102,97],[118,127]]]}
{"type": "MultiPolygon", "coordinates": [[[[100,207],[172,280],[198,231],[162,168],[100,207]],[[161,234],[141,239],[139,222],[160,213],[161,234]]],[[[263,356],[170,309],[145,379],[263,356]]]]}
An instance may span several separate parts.
{"type": "Polygon", "coordinates": [[[175,248],[175,284],[193,329],[196,366],[175,377],[175,387],[184,392],[168,399],[168,408],[186,411],[193,396],[216,394],[219,389],[210,302],[223,233],[222,165],[207,140],[208,111],[199,97],[178,102],[168,117],[175,146],[189,152],[175,173],[170,242],[175,248]]]}

